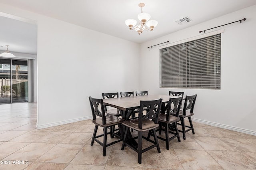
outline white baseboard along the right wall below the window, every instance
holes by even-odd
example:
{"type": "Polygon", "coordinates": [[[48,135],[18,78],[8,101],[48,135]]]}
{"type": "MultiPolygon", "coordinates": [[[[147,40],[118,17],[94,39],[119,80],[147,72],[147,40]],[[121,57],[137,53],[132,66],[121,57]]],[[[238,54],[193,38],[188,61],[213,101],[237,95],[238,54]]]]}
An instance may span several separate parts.
{"type": "Polygon", "coordinates": [[[242,133],[251,134],[251,135],[256,136],[256,131],[253,131],[253,130],[238,128],[238,127],[232,127],[232,126],[223,125],[223,124],[220,124],[220,123],[214,123],[214,122],[204,121],[204,120],[195,119],[195,118],[191,118],[191,119],[195,122],[202,123],[202,124],[205,124],[205,125],[211,125],[211,126],[214,126],[214,127],[225,128],[225,129],[228,129],[228,130],[234,130],[236,132],[242,132],[242,133]]]}

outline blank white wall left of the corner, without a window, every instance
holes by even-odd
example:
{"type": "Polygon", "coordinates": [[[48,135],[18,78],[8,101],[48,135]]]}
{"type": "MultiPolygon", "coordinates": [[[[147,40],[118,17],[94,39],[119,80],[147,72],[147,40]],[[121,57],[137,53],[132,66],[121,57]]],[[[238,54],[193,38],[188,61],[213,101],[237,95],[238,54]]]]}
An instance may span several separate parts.
{"type": "Polygon", "coordinates": [[[137,43],[4,4],[0,11],[38,21],[38,128],[90,119],[89,96],[138,89],[137,43]]]}

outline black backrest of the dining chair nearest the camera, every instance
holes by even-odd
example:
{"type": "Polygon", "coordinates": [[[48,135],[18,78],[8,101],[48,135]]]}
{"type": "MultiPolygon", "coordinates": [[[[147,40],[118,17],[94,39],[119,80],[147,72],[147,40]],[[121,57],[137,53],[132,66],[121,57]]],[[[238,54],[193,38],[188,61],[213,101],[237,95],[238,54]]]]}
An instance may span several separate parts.
{"type": "Polygon", "coordinates": [[[139,127],[142,128],[142,123],[146,119],[153,119],[155,124],[158,124],[158,115],[161,109],[162,99],[152,101],[140,101],[140,112],[138,115],[139,127]],[[146,114],[143,110],[146,108],[146,114]]]}

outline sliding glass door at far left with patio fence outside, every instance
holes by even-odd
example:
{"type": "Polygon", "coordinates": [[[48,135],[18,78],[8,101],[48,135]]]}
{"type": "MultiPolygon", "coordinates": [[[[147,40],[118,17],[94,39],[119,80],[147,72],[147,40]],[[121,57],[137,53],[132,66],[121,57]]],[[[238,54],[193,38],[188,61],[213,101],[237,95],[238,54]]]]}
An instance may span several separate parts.
{"type": "Polygon", "coordinates": [[[0,59],[0,104],[28,101],[28,62],[0,59]]]}

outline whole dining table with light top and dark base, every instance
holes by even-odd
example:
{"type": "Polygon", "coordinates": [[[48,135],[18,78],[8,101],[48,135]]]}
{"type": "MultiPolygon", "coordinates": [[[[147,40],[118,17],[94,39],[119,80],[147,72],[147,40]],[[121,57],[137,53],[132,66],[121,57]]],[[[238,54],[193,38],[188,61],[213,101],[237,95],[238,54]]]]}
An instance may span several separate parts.
{"type": "MultiPolygon", "coordinates": [[[[160,112],[164,113],[167,109],[166,103],[169,102],[170,97],[177,98],[180,96],[169,96],[169,95],[142,95],[142,96],[132,96],[132,97],[118,97],[118,98],[110,98],[110,99],[103,99],[103,104],[106,106],[114,107],[119,109],[121,117],[125,120],[129,120],[132,113],[135,109],[140,108],[140,101],[150,101],[150,100],[157,100],[162,99],[162,106],[160,112]]],[[[119,130],[121,136],[124,134],[124,127],[122,130],[119,130]]],[[[132,139],[131,132],[128,132],[128,140],[132,139]]],[[[138,143],[135,140],[131,140],[135,148],[138,143]]]]}

